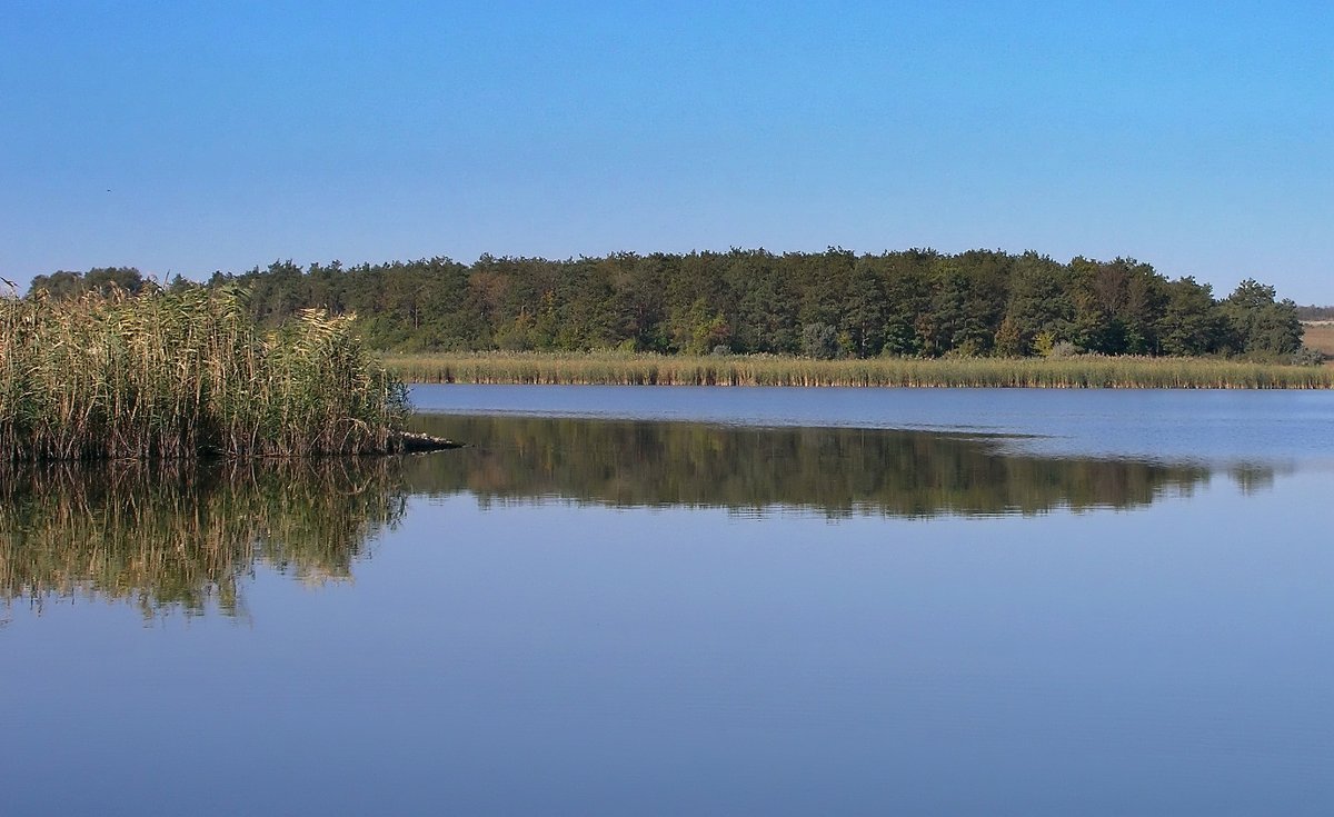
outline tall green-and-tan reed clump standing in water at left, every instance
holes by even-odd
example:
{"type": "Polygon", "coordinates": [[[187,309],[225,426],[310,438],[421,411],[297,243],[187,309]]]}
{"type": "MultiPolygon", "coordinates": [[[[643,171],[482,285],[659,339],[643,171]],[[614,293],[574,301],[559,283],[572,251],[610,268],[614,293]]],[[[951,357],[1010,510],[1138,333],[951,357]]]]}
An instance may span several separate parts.
{"type": "Polygon", "coordinates": [[[391,450],[407,392],[307,310],[277,330],[225,287],[0,299],[0,458],[300,457],[391,450]]]}

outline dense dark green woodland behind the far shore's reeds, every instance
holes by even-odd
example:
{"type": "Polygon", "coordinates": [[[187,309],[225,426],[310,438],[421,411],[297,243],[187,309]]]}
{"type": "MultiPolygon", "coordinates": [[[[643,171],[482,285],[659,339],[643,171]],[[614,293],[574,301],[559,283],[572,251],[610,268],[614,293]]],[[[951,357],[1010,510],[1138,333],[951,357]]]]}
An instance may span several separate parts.
{"type": "MultiPolygon", "coordinates": [[[[907,250],[614,254],[546,260],[484,255],[407,263],[271,264],[239,282],[263,322],[301,308],[358,312],[383,350],[623,348],[815,358],[1247,354],[1301,348],[1297,306],[1242,282],[1217,299],[1131,259],[1059,263],[1037,252],[907,250]]],[[[133,290],[137,271],[39,276],[53,295],[133,290]]],[[[172,286],[192,286],[176,279],[172,286]]]]}

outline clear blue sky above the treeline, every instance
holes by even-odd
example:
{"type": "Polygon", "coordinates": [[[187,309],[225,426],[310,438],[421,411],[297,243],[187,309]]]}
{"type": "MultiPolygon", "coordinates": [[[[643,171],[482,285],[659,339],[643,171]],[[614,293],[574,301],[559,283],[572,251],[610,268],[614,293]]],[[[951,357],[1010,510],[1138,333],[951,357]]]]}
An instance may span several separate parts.
{"type": "Polygon", "coordinates": [[[732,246],[1334,303],[1334,3],[3,3],[23,287],[732,246]]]}

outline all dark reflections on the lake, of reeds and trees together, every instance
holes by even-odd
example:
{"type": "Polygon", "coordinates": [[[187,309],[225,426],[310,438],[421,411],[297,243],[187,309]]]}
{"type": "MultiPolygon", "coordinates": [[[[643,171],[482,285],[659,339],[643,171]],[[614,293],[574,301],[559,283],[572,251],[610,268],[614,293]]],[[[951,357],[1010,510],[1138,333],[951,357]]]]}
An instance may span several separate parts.
{"type": "MultiPolygon", "coordinates": [[[[56,466],[0,474],[0,597],[105,598],[145,617],[244,613],[256,566],[343,579],[407,498],[723,507],[828,518],[1130,509],[1189,495],[1201,465],[1043,458],[916,431],[758,429],[531,417],[419,418],[475,447],[380,459],[196,467],[56,466]]],[[[1229,471],[1246,493],[1271,469],[1229,471]]]]}

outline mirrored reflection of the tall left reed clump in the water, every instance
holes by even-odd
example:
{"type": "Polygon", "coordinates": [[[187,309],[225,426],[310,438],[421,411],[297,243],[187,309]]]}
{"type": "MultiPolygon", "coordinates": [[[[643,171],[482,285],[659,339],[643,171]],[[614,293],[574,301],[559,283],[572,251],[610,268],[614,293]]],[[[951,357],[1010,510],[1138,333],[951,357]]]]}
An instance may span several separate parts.
{"type": "Polygon", "coordinates": [[[131,601],[145,615],[232,615],[265,563],[303,581],[352,561],[404,513],[400,459],[195,467],[52,466],[0,474],[0,595],[131,601]]]}

